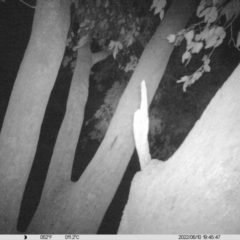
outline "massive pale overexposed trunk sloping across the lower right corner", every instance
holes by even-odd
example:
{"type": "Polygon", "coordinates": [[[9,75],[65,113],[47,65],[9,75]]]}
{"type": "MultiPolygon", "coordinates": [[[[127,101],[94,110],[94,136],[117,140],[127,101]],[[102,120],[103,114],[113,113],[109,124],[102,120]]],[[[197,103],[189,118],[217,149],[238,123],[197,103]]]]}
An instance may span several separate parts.
{"type": "Polygon", "coordinates": [[[240,65],[178,151],[132,181],[118,233],[240,234],[240,65]]]}

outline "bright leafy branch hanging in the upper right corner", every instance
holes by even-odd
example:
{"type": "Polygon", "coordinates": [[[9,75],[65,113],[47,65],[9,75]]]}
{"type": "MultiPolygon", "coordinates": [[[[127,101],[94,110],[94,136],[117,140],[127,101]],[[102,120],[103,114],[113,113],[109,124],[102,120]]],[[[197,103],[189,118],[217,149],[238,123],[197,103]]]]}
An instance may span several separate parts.
{"type": "Polygon", "coordinates": [[[203,20],[181,30],[176,35],[171,34],[168,37],[168,41],[176,46],[181,44],[183,39],[186,40],[186,51],[182,55],[182,63],[185,63],[185,66],[190,62],[194,53],[199,53],[202,49],[211,49],[202,58],[203,64],[200,68],[193,74],[183,76],[178,80],[179,83],[184,83],[184,91],[198,80],[204,72],[211,70],[209,66],[211,55],[222,44],[228,28],[230,28],[230,41],[240,50],[240,32],[237,36],[233,33],[234,22],[240,15],[239,0],[202,0],[196,15],[203,20]]]}

